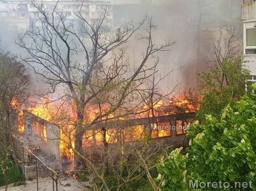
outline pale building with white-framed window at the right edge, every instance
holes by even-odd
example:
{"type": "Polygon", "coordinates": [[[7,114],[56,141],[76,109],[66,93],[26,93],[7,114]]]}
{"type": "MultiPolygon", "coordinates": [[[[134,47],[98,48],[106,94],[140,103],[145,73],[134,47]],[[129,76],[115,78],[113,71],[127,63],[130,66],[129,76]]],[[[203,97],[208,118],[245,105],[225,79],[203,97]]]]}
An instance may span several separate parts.
{"type": "Polygon", "coordinates": [[[243,54],[251,78],[247,87],[256,82],[256,0],[243,0],[243,54]]]}

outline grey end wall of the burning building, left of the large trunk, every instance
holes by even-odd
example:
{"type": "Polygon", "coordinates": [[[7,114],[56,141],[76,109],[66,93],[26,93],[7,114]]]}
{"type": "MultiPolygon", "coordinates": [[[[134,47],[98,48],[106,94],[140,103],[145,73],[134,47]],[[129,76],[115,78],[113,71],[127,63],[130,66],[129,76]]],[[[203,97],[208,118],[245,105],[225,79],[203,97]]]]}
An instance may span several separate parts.
{"type": "Polygon", "coordinates": [[[14,136],[14,139],[16,139],[14,146],[16,146],[20,160],[25,158],[26,167],[29,167],[32,158],[31,152],[38,156],[42,163],[47,164],[52,169],[62,169],[59,127],[30,112],[23,111],[22,113],[23,132],[19,130],[20,134],[14,136]],[[17,144],[15,145],[15,143],[17,144]],[[26,149],[24,150],[24,148],[26,149]]]}

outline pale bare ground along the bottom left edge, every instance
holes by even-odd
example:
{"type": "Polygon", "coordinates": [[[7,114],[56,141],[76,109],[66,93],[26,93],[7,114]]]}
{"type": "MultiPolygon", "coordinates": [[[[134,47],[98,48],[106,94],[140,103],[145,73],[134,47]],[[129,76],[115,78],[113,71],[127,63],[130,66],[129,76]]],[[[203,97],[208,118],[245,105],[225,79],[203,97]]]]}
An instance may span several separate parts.
{"type": "MultiPolygon", "coordinates": [[[[56,184],[55,190],[56,190],[56,184]]],[[[47,178],[39,178],[38,179],[38,190],[39,191],[53,191],[52,189],[52,179],[47,178]]],[[[83,186],[82,183],[72,179],[70,177],[60,178],[58,181],[58,191],[82,191],[83,186]]],[[[5,191],[5,187],[0,187],[0,191],[5,191]]],[[[26,181],[26,186],[15,186],[8,188],[8,191],[37,191],[36,190],[36,180],[26,181]]]]}

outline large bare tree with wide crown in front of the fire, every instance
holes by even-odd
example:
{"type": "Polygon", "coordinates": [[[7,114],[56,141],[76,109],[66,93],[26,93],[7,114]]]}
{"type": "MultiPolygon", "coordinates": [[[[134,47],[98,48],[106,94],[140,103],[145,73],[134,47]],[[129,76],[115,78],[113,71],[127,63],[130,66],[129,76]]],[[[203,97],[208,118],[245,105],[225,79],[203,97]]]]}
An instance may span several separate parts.
{"type": "MultiPolygon", "coordinates": [[[[138,25],[126,23],[111,29],[105,24],[108,7],[96,22],[90,22],[84,16],[84,5],[81,5],[76,14],[77,23],[81,25],[76,26],[68,21],[67,12],[59,9],[58,5],[59,2],[54,9],[47,10],[42,4],[32,1],[31,6],[38,12],[40,27],[20,35],[17,43],[28,53],[22,60],[49,84],[52,92],[57,86],[66,88],[64,96],[75,103],[76,109],[73,147],[76,167],[84,160],[107,188],[97,169],[82,155],[82,136],[85,130],[102,119],[132,113],[133,108],[142,103],[135,95],[143,88],[145,79],[154,74],[152,69],[155,65],[151,61],[156,53],[169,50],[172,43],[168,41],[156,45],[153,42],[155,26],[151,18],[143,19],[138,25]],[[139,40],[144,41],[146,47],[141,61],[131,69],[126,44],[142,27],[146,27],[146,32],[139,40]],[[86,120],[89,106],[101,105],[97,99],[108,104],[108,109],[102,110],[92,120],[86,120]]],[[[71,141],[69,145],[72,146],[71,141]]]]}

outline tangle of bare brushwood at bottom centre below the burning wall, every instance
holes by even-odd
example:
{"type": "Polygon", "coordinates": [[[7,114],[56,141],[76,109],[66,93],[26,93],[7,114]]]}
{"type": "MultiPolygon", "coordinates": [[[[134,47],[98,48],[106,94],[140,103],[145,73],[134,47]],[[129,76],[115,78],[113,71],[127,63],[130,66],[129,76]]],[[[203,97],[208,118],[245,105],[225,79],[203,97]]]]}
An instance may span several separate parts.
{"type": "Polygon", "coordinates": [[[161,143],[145,144],[144,141],[130,142],[126,145],[123,160],[119,160],[118,164],[109,163],[109,166],[103,165],[98,167],[97,171],[101,174],[102,179],[108,180],[108,176],[104,173],[105,168],[110,168],[112,172],[112,182],[114,185],[97,184],[98,179],[94,172],[89,172],[89,186],[85,189],[90,190],[122,190],[129,182],[140,180],[145,177],[154,190],[160,190],[160,184],[156,184],[152,172],[159,164],[168,158],[171,146],[161,145],[161,143]],[[103,171],[103,172],[102,172],[103,171]],[[102,189],[104,187],[104,189],[102,189]]]}

